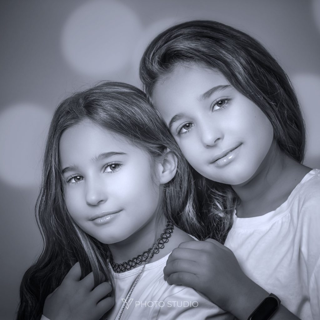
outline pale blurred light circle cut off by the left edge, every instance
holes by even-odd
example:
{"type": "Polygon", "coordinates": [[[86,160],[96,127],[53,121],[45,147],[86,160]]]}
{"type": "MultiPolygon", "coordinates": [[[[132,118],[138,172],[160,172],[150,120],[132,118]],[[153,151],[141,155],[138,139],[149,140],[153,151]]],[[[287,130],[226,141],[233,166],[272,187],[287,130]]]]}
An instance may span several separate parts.
{"type": "Polygon", "coordinates": [[[19,104],[0,113],[0,179],[15,187],[40,182],[44,141],[52,114],[39,106],[19,104]]]}

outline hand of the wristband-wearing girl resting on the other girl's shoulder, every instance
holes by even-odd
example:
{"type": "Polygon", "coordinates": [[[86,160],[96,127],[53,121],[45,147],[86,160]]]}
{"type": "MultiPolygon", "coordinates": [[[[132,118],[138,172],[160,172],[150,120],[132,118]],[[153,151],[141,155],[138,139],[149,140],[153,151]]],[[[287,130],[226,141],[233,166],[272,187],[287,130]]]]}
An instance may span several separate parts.
{"type": "Polygon", "coordinates": [[[250,280],[233,252],[212,239],[181,243],[167,260],[164,279],[169,284],[192,287],[228,311],[237,289],[250,280]]]}

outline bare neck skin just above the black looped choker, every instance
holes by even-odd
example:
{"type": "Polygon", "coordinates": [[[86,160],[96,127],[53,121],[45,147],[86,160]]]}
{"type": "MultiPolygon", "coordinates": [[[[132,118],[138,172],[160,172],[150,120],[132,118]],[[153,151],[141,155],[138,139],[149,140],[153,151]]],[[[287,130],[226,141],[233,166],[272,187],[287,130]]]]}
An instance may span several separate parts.
{"type": "MultiPolygon", "coordinates": [[[[153,217],[137,232],[125,240],[114,244],[108,244],[115,263],[122,263],[124,261],[132,260],[139,254],[142,254],[149,248],[152,248],[153,244],[160,237],[161,233],[163,233],[166,222],[167,220],[164,215],[161,216],[160,221],[156,221],[156,217],[153,217]]],[[[160,250],[161,253],[162,250],[160,250]]]]}

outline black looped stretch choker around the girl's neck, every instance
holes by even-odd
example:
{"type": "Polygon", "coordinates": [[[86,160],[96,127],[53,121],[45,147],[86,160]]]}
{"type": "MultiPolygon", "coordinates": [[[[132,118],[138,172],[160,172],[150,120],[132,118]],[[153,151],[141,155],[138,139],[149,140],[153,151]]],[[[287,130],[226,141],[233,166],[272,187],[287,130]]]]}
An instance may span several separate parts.
{"type": "MultiPolygon", "coordinates": [[[[164,248],[164,244],[167,243],[169,241],[169,238],[171,237],[171,234],[174,228],[172,221],[168,220],[165,227],[166,228],[164,229],[160,238],[157,240],[159,241],[159,243],[157,244],[153,254],[150,256],[150,259],[153,257],[154,254],[158,253],[160,249],[164,248]]],[[[124,261],[122,263],[115,263],[115,261],[113,260],[112,254],[110,253],[111,267],[113,271],[116,273],[124,272],[126,270],[131,270],[132,268],[140,265],[142,262],[147,261],[148,255],[151,251],[152,251],[152,248],[150,248],[148,251],[143,252],[142,254],[139,254],[139,256],[136,258],[133,258],[132,260],[124,261]]]]}

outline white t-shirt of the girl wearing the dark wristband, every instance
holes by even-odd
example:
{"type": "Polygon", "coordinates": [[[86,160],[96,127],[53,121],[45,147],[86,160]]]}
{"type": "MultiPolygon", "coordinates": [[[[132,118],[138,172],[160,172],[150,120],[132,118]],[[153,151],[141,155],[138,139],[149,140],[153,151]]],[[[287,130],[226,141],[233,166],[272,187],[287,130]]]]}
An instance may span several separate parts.
{"type": "Polygon", "coordinates": [[[260,217],[238,218],[225,245],[244,273],[300,319],[320,319],[320,170],[260,217]]]}

